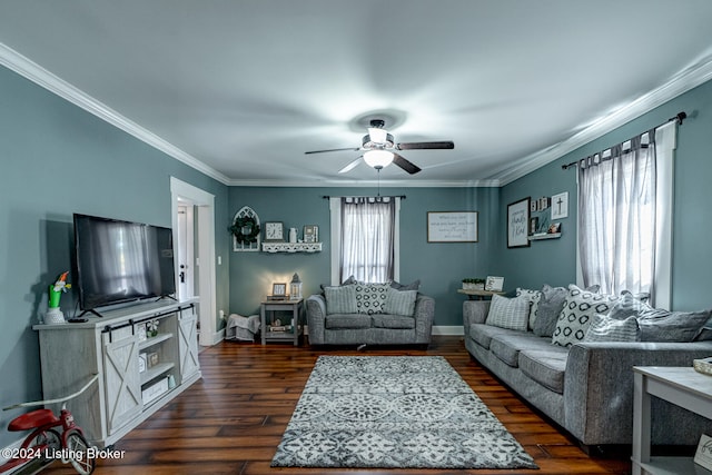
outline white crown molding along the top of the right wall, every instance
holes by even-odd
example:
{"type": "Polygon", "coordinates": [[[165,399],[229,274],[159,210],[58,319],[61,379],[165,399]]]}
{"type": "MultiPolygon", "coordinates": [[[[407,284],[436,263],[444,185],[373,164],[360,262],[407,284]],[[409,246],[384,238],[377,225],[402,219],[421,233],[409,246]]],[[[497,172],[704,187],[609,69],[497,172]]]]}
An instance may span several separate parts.
{"type": "Polygon", "coordinates": [[[662,106],[671,99],[700,86],[712,79],[712,57],[708,56],[695,65],[680,71],[663,86],[654,89],[619,110],[606,115],[586,127],[578,133],[544,150],[531,154],[516,161],[515,165],[502,168],[492,178],[498,180],[501,186],[511,184],[537,168],[547,165],[564,155],[615,130],[616,128],[641,117],[643,113],[662,106]]]}

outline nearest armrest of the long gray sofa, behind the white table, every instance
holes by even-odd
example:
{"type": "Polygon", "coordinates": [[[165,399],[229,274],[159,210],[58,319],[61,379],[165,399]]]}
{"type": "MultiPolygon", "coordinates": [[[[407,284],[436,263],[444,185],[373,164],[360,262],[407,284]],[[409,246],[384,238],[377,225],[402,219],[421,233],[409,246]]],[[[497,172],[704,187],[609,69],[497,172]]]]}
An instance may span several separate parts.
{"type": "MultiPolygon", "coordinates": [[[[712,354],[712,342],[580,343],[564,375],[566,428],[586,445],[631,444],[633,366],[686,366],[712,354]]],[[[661,403],[661,402],[659,402],[661,403]]],[[[696,444],[706,420],[665,403],[653,410],[655,444],[696,444]],[[692,436],[692,437],[691,437],[692,436]]]]}

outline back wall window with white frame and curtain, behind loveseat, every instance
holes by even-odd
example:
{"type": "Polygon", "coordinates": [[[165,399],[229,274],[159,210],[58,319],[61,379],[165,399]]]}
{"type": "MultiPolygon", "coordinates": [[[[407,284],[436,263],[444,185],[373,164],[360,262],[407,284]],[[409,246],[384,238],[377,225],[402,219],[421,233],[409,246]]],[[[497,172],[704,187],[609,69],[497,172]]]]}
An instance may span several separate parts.
{"type": "Polygon", "coordinates": [[[332,284],[386,283],[399,274],[399,198],[332,198],[332,284]]]}

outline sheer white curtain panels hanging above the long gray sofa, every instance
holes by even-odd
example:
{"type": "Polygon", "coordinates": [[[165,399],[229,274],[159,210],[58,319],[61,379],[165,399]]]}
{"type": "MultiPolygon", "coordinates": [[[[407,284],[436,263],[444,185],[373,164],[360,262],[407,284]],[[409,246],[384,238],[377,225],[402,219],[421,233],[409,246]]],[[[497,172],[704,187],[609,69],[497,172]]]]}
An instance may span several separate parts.
{"type": "Polygon", "coordinates": [[[601,293],[654,290],[654,131],[578,162],[578,253],[583,285],[601,293]]]}

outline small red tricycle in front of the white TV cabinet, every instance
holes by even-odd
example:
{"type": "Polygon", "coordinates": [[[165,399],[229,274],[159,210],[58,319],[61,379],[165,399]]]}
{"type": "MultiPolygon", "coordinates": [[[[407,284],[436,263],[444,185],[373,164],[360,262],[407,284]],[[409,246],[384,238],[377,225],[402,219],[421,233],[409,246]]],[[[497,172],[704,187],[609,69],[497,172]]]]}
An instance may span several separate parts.
{"type": "Polygon", "coordinates": [[[8,431],[31,432],[19,447],[3,449],[2,458],[7,462],[0,465],[0,473],[17,468],[18,474],[34,474],[58,459],[65,464],[70,463],[82,475],[92,473],[97,465],[96,451],[85,438],[81,427],[75,424],[75,418],[66,405],[69,399],[87,390],[97,378],[98,375],[95,375],[81,389],[67,397],[4,407],[4,410],[9,410],[17,407],[62,403],[59,416],[51,409],[34,409],[10,422],[8,431]]]}

